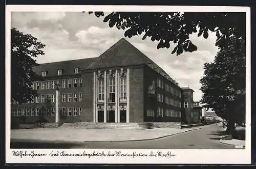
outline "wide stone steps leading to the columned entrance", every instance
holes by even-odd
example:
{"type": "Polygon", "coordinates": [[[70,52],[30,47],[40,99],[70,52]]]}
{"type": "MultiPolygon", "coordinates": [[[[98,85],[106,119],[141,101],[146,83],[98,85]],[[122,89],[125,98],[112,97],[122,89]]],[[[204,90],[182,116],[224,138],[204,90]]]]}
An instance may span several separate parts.
{"type": "Polygon", "coordinates": [[[59,128],[87,128],[87,129],[137,129],[145,130],[159,128],[153,123],[63,123],[59,128]]]}

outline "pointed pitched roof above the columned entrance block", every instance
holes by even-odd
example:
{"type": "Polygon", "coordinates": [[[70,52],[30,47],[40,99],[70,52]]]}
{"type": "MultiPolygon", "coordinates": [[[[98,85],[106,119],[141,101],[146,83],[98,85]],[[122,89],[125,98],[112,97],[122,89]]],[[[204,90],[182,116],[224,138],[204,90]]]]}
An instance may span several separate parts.
{"type": "Polygon", "coordinates": [[[92,64],[87,67],[83,67],[83,69],[99,69],[140,64],[147,65],[157,72],[162,72],[167,79],[169,78],[169,81],[175,83],[175,81],[173,81],[173,79],[160,66],[124,38],[120,39],[95,59],[92,64]]]}

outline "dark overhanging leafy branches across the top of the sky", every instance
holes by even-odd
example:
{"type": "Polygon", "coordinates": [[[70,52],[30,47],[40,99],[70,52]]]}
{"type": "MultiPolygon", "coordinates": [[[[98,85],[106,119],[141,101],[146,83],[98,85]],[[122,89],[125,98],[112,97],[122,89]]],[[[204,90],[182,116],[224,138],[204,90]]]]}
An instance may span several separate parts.
{"type": "MultiPolygon", "coordinates": [[[[93,12],[89,12],[92,14],[93,12]]],[[[198,32],[198,36],[208,38],[209,32],[217,36],[216,46],[226,46],[230,37],[236,36],[245,40],[245,13],[235,12],[94,12],[97,17],[103,16],[110,27],[125,30],[125,37],[142,35],[142,40],[151,38],[158,41],[157,48],[169,48],[170,42],[176,47],[172,54],[197,50],[189,36],[198,32]]]]}

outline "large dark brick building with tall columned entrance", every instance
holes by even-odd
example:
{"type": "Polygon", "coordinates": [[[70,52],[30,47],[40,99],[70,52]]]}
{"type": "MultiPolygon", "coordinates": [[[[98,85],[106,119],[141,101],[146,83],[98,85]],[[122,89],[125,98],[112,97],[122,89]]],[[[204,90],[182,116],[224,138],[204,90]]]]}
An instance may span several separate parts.
{"type": "Polygon", "coordinates": [[[59,86],[60,122],[193,122],[193,90],[179,87],[161,67],[125,39],[97,58],[40,64],[33,82],[39,96],[12,103],[12,117],[55,122],[59,86]]]}

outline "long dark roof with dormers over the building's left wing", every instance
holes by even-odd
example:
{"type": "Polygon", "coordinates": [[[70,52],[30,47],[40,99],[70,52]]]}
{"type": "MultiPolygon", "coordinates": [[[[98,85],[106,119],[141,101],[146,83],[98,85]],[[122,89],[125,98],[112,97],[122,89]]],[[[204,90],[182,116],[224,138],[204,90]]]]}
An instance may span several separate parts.
{"type": "Polygon", "coordinates": [[[84,66],[88,66],[93,60],[95,60],[95,58],[45,63],[35,66],[33,71],[38,75],[41,75],[42,71],[47,71],[47,76],[57,76],[58,70],[62,70],[62,75],[73,75],[75,74],[74,68],[81,69],[84,66]]]}

